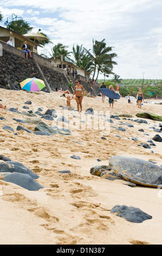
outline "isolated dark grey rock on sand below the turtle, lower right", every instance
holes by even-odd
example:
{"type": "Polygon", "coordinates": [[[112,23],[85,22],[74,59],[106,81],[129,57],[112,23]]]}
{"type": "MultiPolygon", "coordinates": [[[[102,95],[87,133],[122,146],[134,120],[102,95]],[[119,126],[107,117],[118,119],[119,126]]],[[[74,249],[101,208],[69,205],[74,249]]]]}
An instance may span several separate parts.
{"type": "Polygon", "coordinates": [[[142,223],[143,221],[152,219],[151,215],[133,206],[115,205],[111,210],[111,214],[114,213],[116,213],[116,216],[125,218],[127,221],[134,223],[142,223]]]}

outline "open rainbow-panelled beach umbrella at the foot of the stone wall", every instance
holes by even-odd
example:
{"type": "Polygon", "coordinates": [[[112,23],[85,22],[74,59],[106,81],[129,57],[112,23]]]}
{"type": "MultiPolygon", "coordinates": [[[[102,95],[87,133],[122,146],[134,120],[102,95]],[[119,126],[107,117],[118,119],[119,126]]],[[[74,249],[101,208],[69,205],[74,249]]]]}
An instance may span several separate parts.
{"type": "Polygon", "coordinates": [[[29,92],[40,91],[43,87],[46,87],[43,80],[38,78],[27,78],[20,83],[23,90],[28,90],[29,92]]]}

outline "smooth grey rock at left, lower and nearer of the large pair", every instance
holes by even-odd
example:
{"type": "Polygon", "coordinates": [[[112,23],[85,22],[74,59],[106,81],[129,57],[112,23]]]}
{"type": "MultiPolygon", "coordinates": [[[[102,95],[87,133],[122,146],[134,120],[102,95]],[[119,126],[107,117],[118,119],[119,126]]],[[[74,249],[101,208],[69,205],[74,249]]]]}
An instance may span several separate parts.
{"type": "Polygon", "coordinates": [[[7,174],[3,178],[6,182],[14,183],[18,186],[21,186],[29,191],[37,191],[40,190],[40,188],[43,188],[38,182],[36,182],[29,174],[23,174],[23,173],[11,173],[7,174]]]}

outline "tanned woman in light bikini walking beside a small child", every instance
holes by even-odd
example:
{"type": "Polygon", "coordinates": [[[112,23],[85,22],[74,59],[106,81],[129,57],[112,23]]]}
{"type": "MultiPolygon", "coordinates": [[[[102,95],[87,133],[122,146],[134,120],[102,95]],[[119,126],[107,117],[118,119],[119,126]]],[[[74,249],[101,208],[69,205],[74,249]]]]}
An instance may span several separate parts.
{"type": "Polygon", "coordinates": [[[80,106],[80,112],[82,112],[82,99],[83,99],[83,95],[85,94],[85,89],[83,88],[83,86],[80,84],[80,80],[76,80],[75,83],[76,83],[76,86],[74,88],[74,93],[73,93],[73,96],[72,98],[74,97],[74,94],[75,95],[75,100],[76,100],[76,103],[77,103],[77,111],[79,112],[79,106],[80,106]],[[83,95],[82,95],[82,92],[83,92],[83,95]]]}

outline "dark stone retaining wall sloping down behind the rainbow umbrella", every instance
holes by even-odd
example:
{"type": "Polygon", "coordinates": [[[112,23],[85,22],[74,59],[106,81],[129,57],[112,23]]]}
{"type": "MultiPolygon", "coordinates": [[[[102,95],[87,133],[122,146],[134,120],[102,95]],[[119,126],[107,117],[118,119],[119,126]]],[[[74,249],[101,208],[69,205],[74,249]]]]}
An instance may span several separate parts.
{"type": "MultiPolygon", "coordinates": [[[[81,78],[81,84],[90,92],[88,83],[84,81],[84,77],[77,75],[76,78],[67,76],[67,71],[56,68],[51,65],[50,60],[39,56],[32,52],[33,59],[26,59],[25,53],[18,50],[15,47],[7,45],[5,42],[0,40],[0,44],[3,48],[3,54],[0,56],[0,88],[21,90],[20,82],[29,77],[37,77],[43,80],[46,78],[46,88],[44,91],[48,91],[48,86],[52,91],[56,88],[62,90],[69,90],[71,93],[74,92],[75,80],[81,78]],[[37,63],[41,69],[38,69],[37,63]],[[68,83],[73,83],[73,88],[68,86],[68,83]]],[[[99,84],[92,84],[92,87],[96,95],[99,95],[99,84]]]]}

